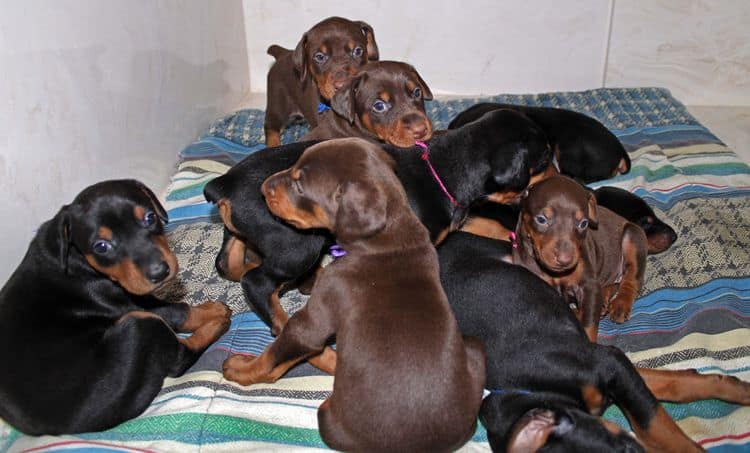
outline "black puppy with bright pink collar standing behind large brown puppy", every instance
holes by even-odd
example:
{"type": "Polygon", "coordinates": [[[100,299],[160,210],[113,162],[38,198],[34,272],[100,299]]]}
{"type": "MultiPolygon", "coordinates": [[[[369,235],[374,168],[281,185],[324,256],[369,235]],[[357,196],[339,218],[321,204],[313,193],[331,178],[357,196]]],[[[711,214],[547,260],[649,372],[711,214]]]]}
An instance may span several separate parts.
{"type": "MultiPolygon", "coordinates": [[[[433,242],[461,225],[472,202],[502,198],[497,195],[501,191],[522,191],[530,178],[530,161],[544,160],[537,156],[546,154],[547,162],[551,160],[549,149],[534,149],[539,142],[528,140],[523,129],[503,128],[515,120],[517,114],[510,110],[491,112],[433,137],[429,153],[418,146],[380,145],[395,159],[409,204],[433,242]]],[[[268,176],[292,166],[310,145],[299,142],[253,153],[204,189],[226,227],[217,270],[241,281],[248,303],[275,334],[287,320],[280,291],[316,268],[329,236],[280,222],[268,212],[260,186],[268,176]]]]}

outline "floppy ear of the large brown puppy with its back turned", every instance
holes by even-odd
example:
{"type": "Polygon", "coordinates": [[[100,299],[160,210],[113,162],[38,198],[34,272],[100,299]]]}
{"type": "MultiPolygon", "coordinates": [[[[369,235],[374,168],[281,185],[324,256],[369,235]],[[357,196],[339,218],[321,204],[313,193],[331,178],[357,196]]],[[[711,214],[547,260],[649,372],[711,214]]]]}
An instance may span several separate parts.
{"type": "Polygon", "coordinates": [[[337,188],[339,206],[334,234],[342,239],[367,238],[385,227],[385,194],[374,184],[347,182],[337,188]]]}

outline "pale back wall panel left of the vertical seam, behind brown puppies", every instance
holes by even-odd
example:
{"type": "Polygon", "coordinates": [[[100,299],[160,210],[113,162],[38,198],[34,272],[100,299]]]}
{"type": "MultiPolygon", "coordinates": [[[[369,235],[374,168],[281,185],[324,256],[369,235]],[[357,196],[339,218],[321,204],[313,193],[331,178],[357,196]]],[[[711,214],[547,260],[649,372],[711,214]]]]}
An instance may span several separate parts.
{"type": "Polygon", "coordinates": [[[372,25],[380,58],[411,63],[433,93],[601,86],[609,7],[602,0],[245,0],[251,89],[266,91],[269,45],[293,48],[334,15],[372,25]]]}

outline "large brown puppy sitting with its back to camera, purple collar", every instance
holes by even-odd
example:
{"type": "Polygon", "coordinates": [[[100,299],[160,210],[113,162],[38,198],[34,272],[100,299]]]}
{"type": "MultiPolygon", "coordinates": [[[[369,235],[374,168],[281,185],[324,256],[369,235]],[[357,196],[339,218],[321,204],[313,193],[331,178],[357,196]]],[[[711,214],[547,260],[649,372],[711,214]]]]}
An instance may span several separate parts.
{"type": "Polygon", "coordinates": [[[308,148],[264,182],[273,214],[297,228],[329,229],[346,255],[324,268],[307,305],[262,355],[230,357],[224,376],[273,382],[336,335],[333,393],[318,410],[326,444],[453,451],[474,433],[485,356],[461,337],[437,253],[394,168],[377,145],[338,139],[308,148]]]}

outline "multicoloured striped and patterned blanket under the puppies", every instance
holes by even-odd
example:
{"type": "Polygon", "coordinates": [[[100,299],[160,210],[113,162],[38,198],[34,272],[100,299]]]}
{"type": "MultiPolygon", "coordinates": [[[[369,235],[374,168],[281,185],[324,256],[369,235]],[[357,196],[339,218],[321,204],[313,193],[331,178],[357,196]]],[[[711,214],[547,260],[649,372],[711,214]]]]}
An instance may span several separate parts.
{"type": "MultiPolygon", "coordinates": [[[[477,102],[561,107],[596,117],[623,142],[632,170],[592,187],[617,186],[641,196],[679,235],[671,249],[649,256],[631,319],[624,324],[603,320],[599,341],[618,346],[638,366],[696,368],[750,380],[750,167],[664,89],[465,98],[428,102],[427,110],[440,129],[477,102]]],[[[294,125],[282,142],[305,131],[304,124],[294,125]]],[[[215,121],[180,153],[166,193],[168,237],[181,269],[163,295],[189,303],[226,302],[234,311],[229,332],[182,377],[166,379],[140,417],[104,432],[56,437],[24,436],[0,424],[0,451],[326,448],[317,432],[317,407],[329,395],[332,377],[302,364],[275,384],[242,387],[224,380],[220,371],[230,353],[259,354],[272,337],[248,308],[240,285],[214,270],[222,226],[202,189],[262,149],[263,140],[263,111],[240,110],[215,121]]],[[[305,301],[296,291],[282,298],[291,312],[305,301]]],[[[497,322],[502,328],[503,320],[497,322]]],[[[750,407],[715,400],[664,406],[712,452],[750,447],[750,407]]],[[[616,408],[605,417],[628,426],[616,408]]],[[[481,426],[462,450],[489,450],[481,426]]]]}

